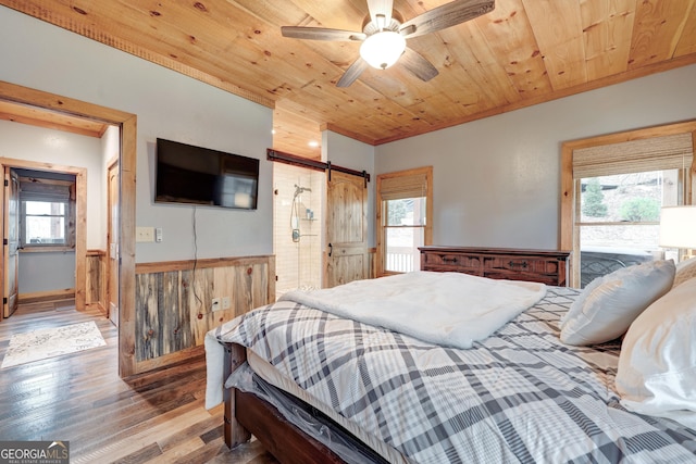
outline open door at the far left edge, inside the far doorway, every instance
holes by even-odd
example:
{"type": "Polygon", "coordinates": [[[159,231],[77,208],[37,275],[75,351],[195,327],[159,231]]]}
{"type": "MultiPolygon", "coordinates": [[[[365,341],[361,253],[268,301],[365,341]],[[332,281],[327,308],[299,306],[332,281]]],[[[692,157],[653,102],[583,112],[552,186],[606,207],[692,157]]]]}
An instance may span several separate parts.
{"type": "Polygon", "coordinates": [[[10,167],[5,167],[4,184],[4,294],[2,312],[4,317],[10,317],[17,309],[20,289],[17,280],[20,268],[20,179],[10,167]]]}

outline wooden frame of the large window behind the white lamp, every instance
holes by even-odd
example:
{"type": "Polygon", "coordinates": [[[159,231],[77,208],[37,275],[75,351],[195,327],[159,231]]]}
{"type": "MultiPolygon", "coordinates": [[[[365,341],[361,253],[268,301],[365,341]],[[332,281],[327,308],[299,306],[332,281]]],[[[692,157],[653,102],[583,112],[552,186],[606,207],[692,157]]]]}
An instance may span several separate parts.
{"type": "MultiPolygon", "coordinates": [[[[621,143],[632,140],[650,139],[655,137],[691,134],[692,147],[696,148],[696,121],[648,127],[609,134],[587,139],[563,142],[561,146],[561,211],[560,211],[560,249],[579,250],[580,234],[575,229],[575,214],[580,204],[576,188],[580,180],[573,177],[573,151],[604,145],[621,143]]],[[[685,166],[684,173],[684,204],[694,204],[692,195],[693,179],[696,177],[696,156],[691,166],[685,166]]],[[[569,285],[580,288],[580,253],[573,252],[570,260],[569,285]]]]}

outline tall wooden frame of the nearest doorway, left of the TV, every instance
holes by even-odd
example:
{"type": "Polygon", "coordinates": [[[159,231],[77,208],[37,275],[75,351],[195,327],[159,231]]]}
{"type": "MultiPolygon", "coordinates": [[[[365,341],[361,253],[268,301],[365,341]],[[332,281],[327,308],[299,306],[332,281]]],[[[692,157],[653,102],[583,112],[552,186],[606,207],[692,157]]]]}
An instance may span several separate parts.
{"type": "MultiPolygon", "coordinates": [[[[121,243],[119,278],[119,375],[121,377],[128,377],[137,374],[135,361],[135,179],[137,163],[137,116],[107,106],[100,106],[2,80],[0,80],[0,100],[88,120],[101,121],[121,128],[121,150],[119,154],[121,166],[121,224],[119,225],[121,243]]],[[[4,253],[4,251],[2,251],[2,253],[4,253]]],[[[4,256],[1,258],[4,259],[4,256]]]]}

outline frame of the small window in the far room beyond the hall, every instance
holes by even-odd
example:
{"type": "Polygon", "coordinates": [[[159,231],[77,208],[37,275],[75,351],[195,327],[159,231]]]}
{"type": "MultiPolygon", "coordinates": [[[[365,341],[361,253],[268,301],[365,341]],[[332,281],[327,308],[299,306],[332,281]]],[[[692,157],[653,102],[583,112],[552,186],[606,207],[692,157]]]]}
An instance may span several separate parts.
{"type": "Polygon", "coordinates": [[[49,251],[72,251],[75,250],[75,217],[76,217],[76,180],[57,180],[41,178],[39,179],[41,185],[52,187],[65,188],[67,187],[66,198],[57,198],[50,193],[42,195],[40,192],[32,192],[30,197],[22,195],[23,183],[33,183],[37,178],[20,177],[20,240],[22,243],[21,252],[49,252],[49,251]],[[52,203],[63,203],[64,208],[64,236],[65,243],[32,243],[26,237],[26,201],[44,201],[52,203]]]}

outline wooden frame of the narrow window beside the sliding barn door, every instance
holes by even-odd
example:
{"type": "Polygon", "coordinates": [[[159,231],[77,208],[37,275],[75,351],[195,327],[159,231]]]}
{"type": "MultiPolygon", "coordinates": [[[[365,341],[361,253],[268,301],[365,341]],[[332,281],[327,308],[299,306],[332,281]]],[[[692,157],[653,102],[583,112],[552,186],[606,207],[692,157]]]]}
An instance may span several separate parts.
{"type": "MultiPolygon", "coordinates": [[[[433,166],[423,166],[417,167],[412,170],[398,171],[394,173],[386,173],[377,175],[377,185],[376,185],[376,226],[377,226],[377,250],[375,258],[375,276],[382,277],[386,275],[395,275],[401,274],[394,271],[385,269],[385,260],[386,260],[386,233],[389,228],[386,225],[386,209],[385,202],[387,201],[383,197],[383,183],[394,183],[401,180],[408,180],[411,177],[422,177],[424,178],[423,192],[425,193],[422,197],[425,198],[425,224],[422,226],[409,226],[414,228],[423,229],[423,246],[430,246],[433,242],[433,166]]],[[[402,197],[406,198],[415,198],[415,197],[402,197]]],[[[394,199],[394,198],[390,198],[394,199]]],[[[420,268],[420,267],[419,267],[420,268]]]]}

